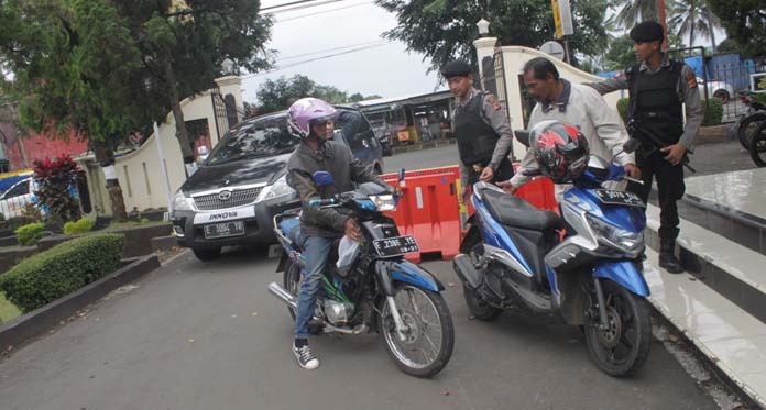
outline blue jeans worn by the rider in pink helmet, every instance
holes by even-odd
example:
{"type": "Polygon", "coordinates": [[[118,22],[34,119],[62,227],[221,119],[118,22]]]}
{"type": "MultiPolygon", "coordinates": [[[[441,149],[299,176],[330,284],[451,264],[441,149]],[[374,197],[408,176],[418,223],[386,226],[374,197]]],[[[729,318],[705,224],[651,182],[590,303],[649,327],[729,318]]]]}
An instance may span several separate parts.
{"type": "Polygon", "coordinates": [[[327,266],[327,258],[332,248],[329,237],[309,236],[304,242],[306,267],[303,272],[304,281],[298,290],[298,308],[295,311],[295,337],[307,339],[308,321],[314,317],[317,297],[321,290],[321,277],[327,266]]]}

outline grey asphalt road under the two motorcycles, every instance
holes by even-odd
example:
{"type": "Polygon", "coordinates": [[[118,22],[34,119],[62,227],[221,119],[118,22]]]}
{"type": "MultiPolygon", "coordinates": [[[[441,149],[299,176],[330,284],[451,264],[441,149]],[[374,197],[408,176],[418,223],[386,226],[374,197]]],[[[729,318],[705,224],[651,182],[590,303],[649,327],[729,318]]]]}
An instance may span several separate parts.
{"type": "MultiPolygon", "coordinates": [[[[456,350],[436,378],[398,372],[375,335],[321,336],[321,367],[303,370],[292,320],[266,292],[275,265],[253,252],[184,254],[0,363],[2,409],[716,408],[657,342],[637,377],[612,378],[577,329],[469,320],[455,286],[456,350]]],[[[450,264],[425,266],[457,282],[450,264]]]]}

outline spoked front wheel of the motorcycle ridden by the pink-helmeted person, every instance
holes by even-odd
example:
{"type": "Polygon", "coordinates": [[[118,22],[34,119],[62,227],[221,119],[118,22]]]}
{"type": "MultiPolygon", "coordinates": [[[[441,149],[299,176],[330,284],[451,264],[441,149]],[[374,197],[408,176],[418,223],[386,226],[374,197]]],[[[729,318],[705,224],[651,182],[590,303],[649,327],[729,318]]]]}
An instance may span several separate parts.
{"type": "Polygon", "coordinates": [[[389,356],[402,372],[415,377],[431,377],[441,372],[455,346],[447,301],[439,293],[409,285],[397,286],[394,300],[407,331],[402,341],[386,300],[377,318],[377,329],[389,356]]]}

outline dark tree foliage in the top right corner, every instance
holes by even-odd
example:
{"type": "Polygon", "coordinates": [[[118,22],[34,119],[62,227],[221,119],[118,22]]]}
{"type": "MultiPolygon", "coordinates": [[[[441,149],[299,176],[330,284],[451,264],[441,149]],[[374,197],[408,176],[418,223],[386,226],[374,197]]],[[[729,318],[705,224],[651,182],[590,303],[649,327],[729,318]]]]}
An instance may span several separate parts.
{"type": "Polygon", "coordinates": [[[708,4],[743,55],[766,55],[766,5],[763,0],[708,0],[708,4]]]}

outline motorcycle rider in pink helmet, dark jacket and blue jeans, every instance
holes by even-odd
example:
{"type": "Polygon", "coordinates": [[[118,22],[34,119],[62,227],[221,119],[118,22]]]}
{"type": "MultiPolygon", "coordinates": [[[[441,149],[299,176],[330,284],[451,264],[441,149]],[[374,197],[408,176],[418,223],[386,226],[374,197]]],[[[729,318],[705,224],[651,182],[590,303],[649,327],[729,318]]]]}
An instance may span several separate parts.
{"type": "Polygon", "coordinates": [[[337,209],[311,207],[309,202],[353,190],[353,182],[377,182],[387,187],[371,167],[354,158],[346,144],[330,140],[335,117],[332,106],[316,98],[304,98],[289,108],[287,120],[291,131],[303,140],[287,162],[287,171],[303,209],[300,236],[306,270],[298,292],[293,353],[300,367],[306,369],[319,367],[319,361],[308,346],[308,322],[314,315],[332,242],[343,234],[353,240],[361,237],[359,225],[352,218],[337,209]],[[313,176],[318,170],[330,173],[332,184],[317,186],[313,176]]]}

